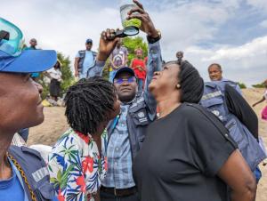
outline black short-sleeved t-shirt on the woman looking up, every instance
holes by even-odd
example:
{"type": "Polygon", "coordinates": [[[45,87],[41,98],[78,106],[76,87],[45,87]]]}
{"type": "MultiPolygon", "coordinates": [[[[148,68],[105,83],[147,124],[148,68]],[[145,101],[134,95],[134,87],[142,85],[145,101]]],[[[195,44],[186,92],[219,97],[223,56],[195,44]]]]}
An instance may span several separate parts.
{"type": "Polygon", "coordinates": [[[228,200],[216,173],[237,145],[213,114],[190,105],[183,103],[148,128],[134,159],[142,201],[228,200]]]}

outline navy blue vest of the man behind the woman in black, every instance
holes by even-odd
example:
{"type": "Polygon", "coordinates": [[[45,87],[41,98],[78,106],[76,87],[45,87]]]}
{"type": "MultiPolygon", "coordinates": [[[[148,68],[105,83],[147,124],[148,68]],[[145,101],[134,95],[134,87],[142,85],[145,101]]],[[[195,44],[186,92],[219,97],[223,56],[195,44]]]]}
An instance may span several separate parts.
{"type": "Polygon", "coordinates": [[[253,134],[248,131],[247,127],[237,117],[229,112],[224,96],[226,84],[230,84],[234,88],[237,85],[234,82],[225,80],[205,83],[200,104],[223,122],[232,139],[237,142],[242,156],[247,161],[247,165],[254,171],[266,156],[253,134]]]}

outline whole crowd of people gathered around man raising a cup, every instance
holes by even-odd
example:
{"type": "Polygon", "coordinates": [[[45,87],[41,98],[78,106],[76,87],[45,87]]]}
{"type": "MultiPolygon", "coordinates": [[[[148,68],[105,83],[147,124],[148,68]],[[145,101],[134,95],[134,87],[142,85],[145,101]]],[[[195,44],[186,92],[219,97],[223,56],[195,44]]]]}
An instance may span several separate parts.
{"type": "Polygon", "coordinates": [[[204,83],[183,52],[163,62],[160,31],[134,4],[128,20],[142,21],[147,59],[136,48],[128,62],[114,29],[101,32],[97,53],[87,39],[75,59],[79,80],[64,97],[70,128],[47,158],[11,143],[44,121],[43,87],[32,73],[46,71],[56,101],[61,62],[53,50],[22,50],[20,28],[0,19],[1,200],[255,200],[266,152],[239,85],[217,63],[204,83]],[[109,80],[101,77],[107,60],[109,80]]]}

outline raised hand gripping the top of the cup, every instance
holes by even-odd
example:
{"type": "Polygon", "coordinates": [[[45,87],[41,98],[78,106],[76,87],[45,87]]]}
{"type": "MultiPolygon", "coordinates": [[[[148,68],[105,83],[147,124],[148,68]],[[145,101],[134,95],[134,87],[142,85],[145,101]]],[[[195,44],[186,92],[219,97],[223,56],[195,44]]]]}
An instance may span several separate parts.
{"type": "Polygon", "coordinates": [[[141,3],[137,0],[133,0],[134,4],[137,7],[133,8],[130,12],[128,12],[129,16],[127,20],[136,18],[142,21],[140,30],[145,32],[148,36],[158,37],[158,31],[154,27],[152,20],[150,20],[150,15],[148,12],[145,12],[141,3]]]}

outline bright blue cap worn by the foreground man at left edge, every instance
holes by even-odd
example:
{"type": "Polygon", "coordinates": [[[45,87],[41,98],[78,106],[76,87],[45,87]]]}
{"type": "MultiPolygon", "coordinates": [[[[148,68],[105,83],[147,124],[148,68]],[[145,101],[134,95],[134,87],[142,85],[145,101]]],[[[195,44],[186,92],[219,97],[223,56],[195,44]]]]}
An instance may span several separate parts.
{"type": "Polygon", "coordinates": [[[0,72],[34,73],[52,68],[57,61],[53,50],[24,50],[20,56],[0,51],[0,72]]]}

